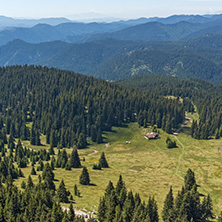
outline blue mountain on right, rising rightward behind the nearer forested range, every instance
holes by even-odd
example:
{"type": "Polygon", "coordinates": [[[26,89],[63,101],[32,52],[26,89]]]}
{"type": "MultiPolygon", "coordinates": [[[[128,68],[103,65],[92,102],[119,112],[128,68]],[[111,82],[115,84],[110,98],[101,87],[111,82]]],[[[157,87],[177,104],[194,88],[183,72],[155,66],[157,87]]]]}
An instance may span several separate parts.
{"type": "Polygon", "coordinates": [[[218,28],[221,27],[221,24],[222,22],[220,21],[209,23],[190,23],[181,21],[174,24],[148,22],[113,33],[94,35],[88,38],[88,41],[102,38],[131,41],[176,41],[184,38],[201,36],[206,33],[220,33],[221,31],[219,31],[218,28]]]}

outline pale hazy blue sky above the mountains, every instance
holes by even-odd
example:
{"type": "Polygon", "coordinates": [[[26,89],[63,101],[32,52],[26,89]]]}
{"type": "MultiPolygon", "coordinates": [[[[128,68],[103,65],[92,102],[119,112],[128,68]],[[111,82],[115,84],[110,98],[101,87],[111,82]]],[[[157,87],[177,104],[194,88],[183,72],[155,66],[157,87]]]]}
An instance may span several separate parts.
{"type": "Polygon", "coordinates": [[[0,0],[0,3],[0,15],[16,18],[138,18],[222,13],[222,0],[0,0]]]}

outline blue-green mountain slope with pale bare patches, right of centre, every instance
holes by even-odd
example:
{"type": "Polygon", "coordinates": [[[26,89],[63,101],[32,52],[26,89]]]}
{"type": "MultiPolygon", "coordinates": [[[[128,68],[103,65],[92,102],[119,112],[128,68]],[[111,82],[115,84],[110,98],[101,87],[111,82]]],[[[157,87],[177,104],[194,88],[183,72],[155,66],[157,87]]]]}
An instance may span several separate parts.
{"type": "Polygon", "coordinates": [[[109,60],[92,72],[98,78],[114,81],[134,75],[161,74],[222,82],[221,65],[187,50],[135,50],[109,60]]]}

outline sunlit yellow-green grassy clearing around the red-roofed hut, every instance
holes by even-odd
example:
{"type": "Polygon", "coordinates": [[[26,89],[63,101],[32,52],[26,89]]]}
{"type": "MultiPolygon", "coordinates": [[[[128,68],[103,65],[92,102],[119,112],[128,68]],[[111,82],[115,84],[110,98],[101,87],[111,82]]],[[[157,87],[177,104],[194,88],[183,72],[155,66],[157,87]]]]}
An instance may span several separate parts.
{"type": "MultiPolygon", "coordinates": [[[[146,140],[144,135],[151,129],[139,128],[137,123],[131,123],[122,128],[113,127],[112,132],[103,134],[103,144],[92,143],[87,149],[78,150],[79,155],[98,151],[96,154],[85,156],[85,162],[81,162],[88,168],[91,186],[79,184],[82,169],[71,171],[56,169],[55,178],[59,181],[55,181],[55,184],[58,187],[60,180],[64,180],[74,197],[75,208],[96,211],[99,198],[103,196],[109,180],[115,185],[119,175],[122,174],[127,188],[134,193],[140,193],[143,200],[147,201],[150,195],[155,196],[160,213],[170,186],[173,186],[174,196],[176,196],[183,185],[183,177],[187,169],[191,168],[200,185],[199,192],[203,195],[208,193],[211,195],[214,211],[218,215],[222,206],[222,150],[220,153],[217,148],[221,146],[222,139],[192,139],[189,135],[190,125],[191,123],[188,123],[177,136],[168,135],[160,130],[160,139],[157,140],[146,140]],[[167,136],[176,140],[178,148],[166,148],[167,136]],[[126,144],[126,141],[130,141],[131,144],[126,144]],[[110,145],[106,146],[108,142],[110,145]],[[98,163],[102,151],[105,152],[110,168],[101,171],[92,170],[93,164],[98,163]],[[81,197],[74,196],[74,184],[77,184],[81,197]]],[[[44,139],[42,138],[42,141],[44,139]]],[[[32,147],[28,141],[23,143],[34,149],[48,148],[48,146],[32,147]]],[[[71,152],[71,149],[67,152],[71,152]]],[[[82,156],[81,159],[83,159],[82,156]]],[[[31,166],[22,171],[26,177],[15,181],[19,187],[22,180],[27,180],[31,166]]],[[[37,173],[41,174],[41,172],[37,173]]],[[[34,182],[38,181],[38,175],[32,178],[34,182]]]]}

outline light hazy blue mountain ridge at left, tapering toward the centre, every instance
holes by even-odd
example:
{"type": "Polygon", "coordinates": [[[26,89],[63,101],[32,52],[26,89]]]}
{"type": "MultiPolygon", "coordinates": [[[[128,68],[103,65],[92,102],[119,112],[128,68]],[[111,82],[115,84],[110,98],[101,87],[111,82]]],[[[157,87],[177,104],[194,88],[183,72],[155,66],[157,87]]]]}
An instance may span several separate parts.
{"type": "MultiPolygon", "coordinates": [[[[69,40],[77,36],[78,41],[87,35],[113,32],[128,27],[121,23],[63,23],[57,26],[38,24],[32,28],[8,28],[0,32],[0,45],[14,39],[29,43],[40,43],[55,40],[69,40]],[[83,37],[82,37],[83,36],[83,37]]],[[[76,40],[75,40],[76,41],[76,40]]]]}

